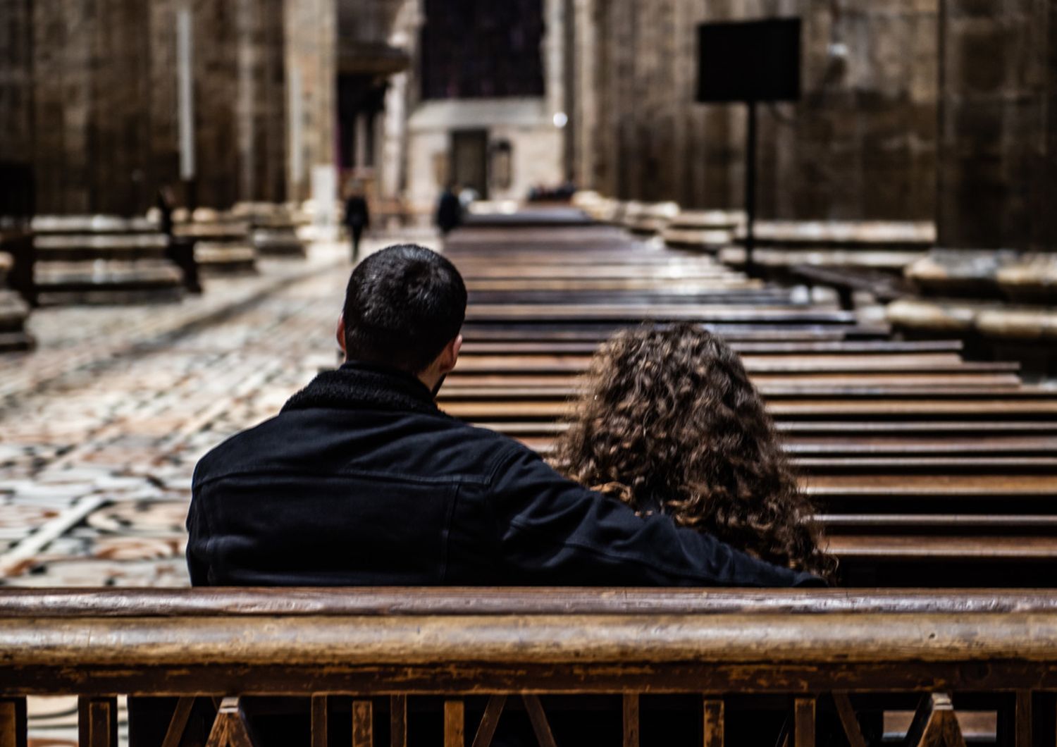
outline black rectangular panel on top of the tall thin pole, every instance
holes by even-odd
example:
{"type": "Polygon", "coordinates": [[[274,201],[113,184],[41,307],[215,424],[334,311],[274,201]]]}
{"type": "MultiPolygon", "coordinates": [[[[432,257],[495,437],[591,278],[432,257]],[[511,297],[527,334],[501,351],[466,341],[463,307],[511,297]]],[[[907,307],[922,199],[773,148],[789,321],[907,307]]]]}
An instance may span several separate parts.
{"type": "Polygon", "coordinates": [[[795,101],[800,98],[800,19],[698,26],[698,100],[795,101]]]}

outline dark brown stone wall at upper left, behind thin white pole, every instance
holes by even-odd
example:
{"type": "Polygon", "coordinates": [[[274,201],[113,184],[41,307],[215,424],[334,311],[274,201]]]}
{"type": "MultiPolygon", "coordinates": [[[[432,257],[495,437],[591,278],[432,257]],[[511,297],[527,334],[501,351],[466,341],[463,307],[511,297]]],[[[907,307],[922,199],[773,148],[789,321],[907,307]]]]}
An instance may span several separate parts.
{"type": "Polygon", "coordinates": [[[0,0],[0,161],[32,164],[44,213],[142,213],[179,186],[177,7],[189,5],[197,204],[284,200],[284,4],[0,0]]]}

